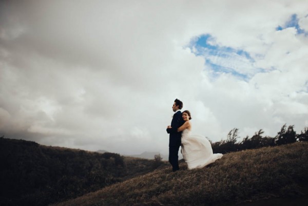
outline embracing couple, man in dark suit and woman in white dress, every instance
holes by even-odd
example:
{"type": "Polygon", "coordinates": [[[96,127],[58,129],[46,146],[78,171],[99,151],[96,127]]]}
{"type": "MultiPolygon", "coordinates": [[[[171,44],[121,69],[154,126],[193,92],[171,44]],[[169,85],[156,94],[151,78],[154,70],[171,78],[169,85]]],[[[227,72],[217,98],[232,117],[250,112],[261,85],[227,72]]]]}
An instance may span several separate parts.
{"type": "Polygon", "coordinates": [[[176,99],[172,105],[175,112],[171,125],[167,126],[169,134],[169,162],[172,171],[178,171],[178,153],[181,146],[181,153],[188,169],[201,168],[215,162],[222,157],[222,154],[213,154],[210,142],[203,136],[191,135],[191,115],[188,110],[181,112],[183,102],[176,99]]]}

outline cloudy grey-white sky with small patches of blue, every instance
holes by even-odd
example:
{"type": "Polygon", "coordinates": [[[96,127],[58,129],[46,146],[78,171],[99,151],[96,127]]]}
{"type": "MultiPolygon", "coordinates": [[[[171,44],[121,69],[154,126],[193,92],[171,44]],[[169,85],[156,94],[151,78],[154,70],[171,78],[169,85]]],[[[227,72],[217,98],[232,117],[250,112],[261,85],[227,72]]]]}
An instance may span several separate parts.
{"type": "Polygon", "coordinates": [[[168,153],[175,99],[212,142],[308,126],[308,1],[0,1],[0,136],[168,153]]]}

